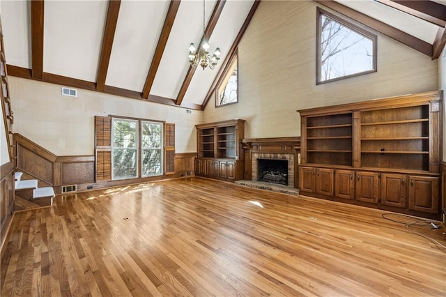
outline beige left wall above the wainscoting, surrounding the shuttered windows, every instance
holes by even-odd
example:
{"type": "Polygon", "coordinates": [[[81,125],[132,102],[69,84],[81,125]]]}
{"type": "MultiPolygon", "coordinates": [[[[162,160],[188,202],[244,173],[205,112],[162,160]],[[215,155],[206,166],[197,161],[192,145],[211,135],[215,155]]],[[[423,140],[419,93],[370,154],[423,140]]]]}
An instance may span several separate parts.
{"type": "Polygon", "coordinates": [[[56,155],[93,155],[94,116],[129,116],[176,124],[176,152],[196,151],[194,125],[203,112],[77,89],[62,96],[61,86],[9,77],[14,132],[56,155]]]}

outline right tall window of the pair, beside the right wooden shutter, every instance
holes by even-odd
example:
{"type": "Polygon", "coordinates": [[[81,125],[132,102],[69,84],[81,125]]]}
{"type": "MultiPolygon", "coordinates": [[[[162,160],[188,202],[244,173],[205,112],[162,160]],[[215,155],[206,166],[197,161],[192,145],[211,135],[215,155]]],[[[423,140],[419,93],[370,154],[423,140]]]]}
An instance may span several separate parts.
{"type": "Polygon", "coordinates": [[[141,122],[141,176],[162,174],[162,123],[141,122]]]}

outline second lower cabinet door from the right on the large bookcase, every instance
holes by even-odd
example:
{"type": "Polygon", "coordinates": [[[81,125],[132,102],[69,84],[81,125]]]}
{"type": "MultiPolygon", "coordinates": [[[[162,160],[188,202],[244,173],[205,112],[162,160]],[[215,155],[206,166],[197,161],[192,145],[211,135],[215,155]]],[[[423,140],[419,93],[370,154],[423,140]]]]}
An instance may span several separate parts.
{"type": "Polygon", "coordinates": [[[381,174],[381,204],[406,207],[407,176],[405,174],[381,174]]]}

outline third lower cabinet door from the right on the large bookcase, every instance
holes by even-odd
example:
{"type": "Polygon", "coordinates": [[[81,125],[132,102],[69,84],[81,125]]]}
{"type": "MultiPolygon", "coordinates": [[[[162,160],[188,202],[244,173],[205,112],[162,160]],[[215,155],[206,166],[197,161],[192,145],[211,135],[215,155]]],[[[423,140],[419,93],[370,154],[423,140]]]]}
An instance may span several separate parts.
{"type": "Polygon", "coordinates": [[[379,176],[375,172],[356,172],[356,200],[378,203],[379,176]]]}

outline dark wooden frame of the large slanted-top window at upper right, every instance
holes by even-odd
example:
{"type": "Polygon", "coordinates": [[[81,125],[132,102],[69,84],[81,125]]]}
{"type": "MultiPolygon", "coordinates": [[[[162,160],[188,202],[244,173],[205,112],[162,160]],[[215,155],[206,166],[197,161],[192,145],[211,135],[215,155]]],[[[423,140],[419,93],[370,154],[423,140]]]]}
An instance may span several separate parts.
{"type": "Polygon", "coordinates": [[[326,84],[328,82],[337,82],[342,79],[348,79],[351,77],[357,77],[360,75],[367,75],[369,73],[376,73],[378,71],[378,36],[367,29],[366,26],[349,19],[348,17],[341,16],[339,14],[330,13],[327,10],[323,10],[320,7],[316,8],[316,85],[326,84]],[[348,29],[355,31],[372,41],[373,61],[372,69],[365,70],[360,73],[353,73],[351,75],[345,75],[342,77],[336,77],[332,79],[321,80],[321,15],[329,17],[330,19],[346,26],[348,29]]]}

